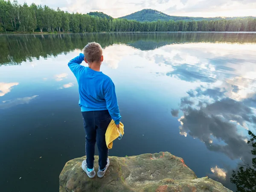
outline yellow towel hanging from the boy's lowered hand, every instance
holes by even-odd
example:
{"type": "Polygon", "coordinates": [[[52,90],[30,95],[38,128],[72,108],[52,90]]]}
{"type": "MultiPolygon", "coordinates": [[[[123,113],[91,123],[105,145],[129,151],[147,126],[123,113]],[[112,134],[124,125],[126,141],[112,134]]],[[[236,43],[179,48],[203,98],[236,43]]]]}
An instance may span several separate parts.
{"type": "Polygon", "coordinates": [[[109,149],[113,146],[113,140],[119,137],[119,134],[124,135],[124,125],[120,122],[119,128],[116,127],[114,120],[112,119],[110,124],[108,125],[105,137],[106,137],[106,144],[109,149]]]}

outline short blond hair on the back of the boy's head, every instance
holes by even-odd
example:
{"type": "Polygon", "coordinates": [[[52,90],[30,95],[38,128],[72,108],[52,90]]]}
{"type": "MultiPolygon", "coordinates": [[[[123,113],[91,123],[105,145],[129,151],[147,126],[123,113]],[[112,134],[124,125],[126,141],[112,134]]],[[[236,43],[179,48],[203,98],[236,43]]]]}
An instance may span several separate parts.
{"type": "Polygon", "coordinates": [[[84,47],[83,53],[88,63],[100,61],[102,56],[102,47],[96,42],[90,42],[84,47]]]}

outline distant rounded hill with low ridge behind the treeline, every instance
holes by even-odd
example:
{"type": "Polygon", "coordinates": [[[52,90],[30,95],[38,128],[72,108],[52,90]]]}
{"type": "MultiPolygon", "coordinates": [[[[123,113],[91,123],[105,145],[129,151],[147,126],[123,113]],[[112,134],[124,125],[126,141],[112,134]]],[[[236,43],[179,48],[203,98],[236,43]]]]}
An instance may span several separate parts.
{"type": "MultiPolygon", "coordinates": [[[[139,12],[120,17],[122,19],[137,20],[137,21],[157,21],[157,20],[184,20],[184,21],[200,21],[200,20],[221,20],[221,19],[235,19],[237,17],[182,17],[182,16],[170,16],[163,12],[159,12],[153,9],[143,9],[139,12]]],[[[245,18],[245,17],[242,17],[245,18]]]]}

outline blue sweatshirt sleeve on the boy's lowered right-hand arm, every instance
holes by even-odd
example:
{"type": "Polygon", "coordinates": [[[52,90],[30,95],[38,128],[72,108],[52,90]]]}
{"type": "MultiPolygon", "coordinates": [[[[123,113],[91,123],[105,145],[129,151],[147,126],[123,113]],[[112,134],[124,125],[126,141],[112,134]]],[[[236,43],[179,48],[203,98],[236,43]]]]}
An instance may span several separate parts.
{"type": "Polygon", "coordinates": [[[112,81],[108,83],[107,87],[105,88],[104,96],[107,102],[107,109],[109,114],[111,115],[111,118],[115,121],[116,125],[119,125],[121,115],[117,104],[115,85],[112,81]]]}

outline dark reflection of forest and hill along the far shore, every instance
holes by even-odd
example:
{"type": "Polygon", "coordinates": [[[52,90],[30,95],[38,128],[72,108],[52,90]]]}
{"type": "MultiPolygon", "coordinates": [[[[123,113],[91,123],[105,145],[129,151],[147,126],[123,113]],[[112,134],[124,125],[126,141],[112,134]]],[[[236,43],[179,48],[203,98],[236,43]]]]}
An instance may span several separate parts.
{"type": "MultiPolygon", "coordinates": [[[[75,49],[82,49],[91,41],[99,42],[103,48],[113,44],[127,44],[140,50],[154,50],[168,44],[189,42],[230,42],[251,43],[256,41],[254,34],[232,33],[96,33],[58,35],[0,35],[1,64],[17,65],[32,59],[56,57],[75,49]]],[[[184,55],[176,55],[182,59],[184,55]]]]}

